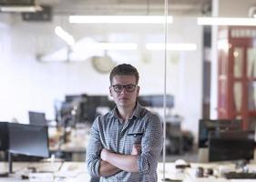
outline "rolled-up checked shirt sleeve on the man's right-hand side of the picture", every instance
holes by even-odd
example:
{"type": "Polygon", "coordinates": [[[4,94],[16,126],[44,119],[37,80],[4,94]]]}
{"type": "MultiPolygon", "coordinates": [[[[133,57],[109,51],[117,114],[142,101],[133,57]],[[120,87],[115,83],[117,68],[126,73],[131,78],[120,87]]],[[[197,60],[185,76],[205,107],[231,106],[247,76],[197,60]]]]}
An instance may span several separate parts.
{"type": "Polygon", "coordinates": [[[142,175],[154,173],[163,147],[163,132],[159,116],[148,115],[147,126],[141,140],[141,154],[137,160],[138,172],[142,175]]]}

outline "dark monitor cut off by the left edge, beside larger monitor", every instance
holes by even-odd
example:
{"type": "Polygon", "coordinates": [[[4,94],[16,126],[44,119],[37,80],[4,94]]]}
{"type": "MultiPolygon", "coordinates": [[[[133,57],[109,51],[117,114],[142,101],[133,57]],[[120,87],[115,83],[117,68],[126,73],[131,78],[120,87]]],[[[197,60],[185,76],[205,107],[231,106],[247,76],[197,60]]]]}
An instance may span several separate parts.
{"type": "Polygon", "coordinates": [[[9,136],[8,136],[8,122],[0,122],[0,151],[8,150],[9,136]]]}

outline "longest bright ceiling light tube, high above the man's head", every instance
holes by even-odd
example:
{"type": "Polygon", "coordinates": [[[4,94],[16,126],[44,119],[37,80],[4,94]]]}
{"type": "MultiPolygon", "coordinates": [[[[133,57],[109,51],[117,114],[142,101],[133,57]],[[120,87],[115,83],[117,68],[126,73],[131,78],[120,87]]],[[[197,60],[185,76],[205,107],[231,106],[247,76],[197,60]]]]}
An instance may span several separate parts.
{"type": "MultiPolygon", "coordinates": [[[[163,15],[70,15],[71,24],[164,24],[163,15]]],[[[172,23],[172,16],[167,22],[172,23]]]]}

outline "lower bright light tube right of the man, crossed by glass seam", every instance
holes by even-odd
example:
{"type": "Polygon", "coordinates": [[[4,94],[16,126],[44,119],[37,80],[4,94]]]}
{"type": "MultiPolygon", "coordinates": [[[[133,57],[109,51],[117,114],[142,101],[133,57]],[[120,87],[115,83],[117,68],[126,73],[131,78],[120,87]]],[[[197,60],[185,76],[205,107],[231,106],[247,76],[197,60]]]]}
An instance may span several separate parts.
{"type": "MultiPolygon", "coordinates": [[[[148,50],[164,50],[164,44],[147,44],[148,50]]],[[[194,51],[197,50],[196,44],[167,44],[167,50],[171,51],[194,51]]]]}

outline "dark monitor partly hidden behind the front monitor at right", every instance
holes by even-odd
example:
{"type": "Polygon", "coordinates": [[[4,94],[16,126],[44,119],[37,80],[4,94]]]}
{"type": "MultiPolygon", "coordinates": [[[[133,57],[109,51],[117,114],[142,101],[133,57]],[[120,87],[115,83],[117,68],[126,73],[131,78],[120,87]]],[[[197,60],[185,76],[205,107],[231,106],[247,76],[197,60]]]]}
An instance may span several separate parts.
{"type": "Polygon", "coordinates": [[[240,131],[241,129],[240,119],[200,119],[199,147],[209,146],[210,131],[240,131]]]}

